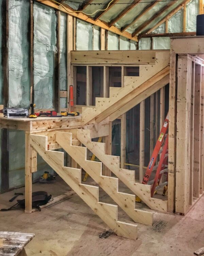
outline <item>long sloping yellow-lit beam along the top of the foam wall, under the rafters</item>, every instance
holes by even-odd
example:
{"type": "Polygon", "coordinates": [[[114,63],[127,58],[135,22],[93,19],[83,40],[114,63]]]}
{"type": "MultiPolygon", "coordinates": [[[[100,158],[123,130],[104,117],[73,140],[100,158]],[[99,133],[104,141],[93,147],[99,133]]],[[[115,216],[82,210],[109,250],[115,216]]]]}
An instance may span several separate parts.
{"type": "Polygon", "coordinates": [[[109,31],[111,31],[115,34],[122,35],[123,37],[126,37],[126,38],[131,39],[131,40],[136,41],[136,42],[138,41],[137,37],[136,36],[133,37],[131,33],[126,32],[126,31],[121,32],[120,29],[116,28],[115,26],[109,27],[108,24],[101,21],[100,19],[95,21],[94,19],[92,19],[88,15],[85,15],[85,14],[79,13],[79,12],[75,12],[75,10],[73,10],[72,8],[70,8],[66,4],[63,4],[63,6],[58,5],[54,2],[52,2],[51,0],[36,0],[36,1],[39,2],[39,3],[45,4],[45,5],[47,5],[51,8],[54,8],[58,11],[62,11],[64,13],[67,13],[67,14],[71,15],[71,16],[74,16],[74,17],[77,17],[79,19],[85,20],[86,22],[89,22],[93,25],[99,26],[103,29],[109,30],[109,31]]]}

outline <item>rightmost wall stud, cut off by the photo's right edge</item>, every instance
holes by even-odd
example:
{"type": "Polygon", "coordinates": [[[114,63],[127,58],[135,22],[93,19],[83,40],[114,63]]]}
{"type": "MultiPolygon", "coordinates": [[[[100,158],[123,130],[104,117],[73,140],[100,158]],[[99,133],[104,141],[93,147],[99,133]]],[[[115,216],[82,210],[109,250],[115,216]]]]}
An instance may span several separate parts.
{"type": "Polygon", "coordinates": [[[203,193],[203,121],[204,121],[204,67],[201,67],[201,133],[200,133],[200,194],[203,193]]]}

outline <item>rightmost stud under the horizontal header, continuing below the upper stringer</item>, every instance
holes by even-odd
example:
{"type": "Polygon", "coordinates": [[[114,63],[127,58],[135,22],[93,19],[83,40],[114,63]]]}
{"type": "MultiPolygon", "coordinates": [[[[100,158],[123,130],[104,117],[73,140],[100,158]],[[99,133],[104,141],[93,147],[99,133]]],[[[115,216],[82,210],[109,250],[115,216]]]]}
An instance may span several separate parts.
{"type": "MultiPolygon", "coordinates": [[[[121,68],[121,87],[124,87],[124,76],[126,75],[126,67],[121,68]]],[[[125,169],[126,161],[126,113],[121,116],[121,141],[120,141],[120,168],[125,169]]]]}

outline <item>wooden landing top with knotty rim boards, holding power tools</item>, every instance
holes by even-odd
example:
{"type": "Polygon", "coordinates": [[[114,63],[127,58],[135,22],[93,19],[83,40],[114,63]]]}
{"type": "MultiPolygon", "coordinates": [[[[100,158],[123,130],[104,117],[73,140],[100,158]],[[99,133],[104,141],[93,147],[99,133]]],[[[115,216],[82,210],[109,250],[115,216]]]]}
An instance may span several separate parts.
{"type": "Polygon", "coordinates": [[[37,118],[7,118],[0,117],[0,128],[15,129],[34,132],[44,132],[57,129],[80,128],[82,126],[82,116],[63,116],[37,118]]]}

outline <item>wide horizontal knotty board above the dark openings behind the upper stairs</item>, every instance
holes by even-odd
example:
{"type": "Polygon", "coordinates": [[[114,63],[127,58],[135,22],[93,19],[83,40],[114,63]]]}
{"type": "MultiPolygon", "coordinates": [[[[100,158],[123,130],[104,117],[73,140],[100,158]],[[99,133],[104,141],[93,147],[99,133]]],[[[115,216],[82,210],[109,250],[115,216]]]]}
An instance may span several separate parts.
{"type": "MultiPolygon", "coordinates": [[[[162,52],[169,52],[164,50],[162,52]]],[[[102,64],[117,64],[117,63],[155,63],[155,50],[120,50],[120,51],[71,51],[71,63],[97,63],[102,64]]]]}

